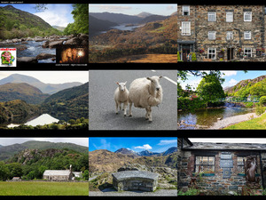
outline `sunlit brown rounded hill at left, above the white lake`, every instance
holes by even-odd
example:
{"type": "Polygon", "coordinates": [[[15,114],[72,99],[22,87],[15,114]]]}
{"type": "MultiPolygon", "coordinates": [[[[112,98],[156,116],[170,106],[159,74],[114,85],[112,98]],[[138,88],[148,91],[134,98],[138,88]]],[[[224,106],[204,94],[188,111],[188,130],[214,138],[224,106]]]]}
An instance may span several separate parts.
{"type": "Polygon", "coordinates": [[[49,96],[29,84],[0,85],[0,101],[25,100],[29,104],[39,104],[49,96]]]}

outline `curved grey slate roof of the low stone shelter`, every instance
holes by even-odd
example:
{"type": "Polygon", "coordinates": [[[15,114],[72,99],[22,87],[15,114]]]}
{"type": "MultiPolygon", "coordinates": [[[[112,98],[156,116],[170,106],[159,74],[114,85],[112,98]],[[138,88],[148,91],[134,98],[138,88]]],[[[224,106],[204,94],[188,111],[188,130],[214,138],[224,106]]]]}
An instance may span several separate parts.
{"type": "Polygon", "coordinates": [[[146,171],[122,171],[112,174],[117,180],[126,180],[130,178],[145,178],[149,180],[157,180],[159,175],[153,172],[146,171]]]}

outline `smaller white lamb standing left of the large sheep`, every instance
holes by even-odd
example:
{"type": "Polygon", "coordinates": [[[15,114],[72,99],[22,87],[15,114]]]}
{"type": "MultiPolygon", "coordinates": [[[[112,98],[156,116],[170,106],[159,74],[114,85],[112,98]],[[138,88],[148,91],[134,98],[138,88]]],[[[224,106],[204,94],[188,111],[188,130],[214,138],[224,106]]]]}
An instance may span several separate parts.
{"type": "Polygon", "coordinates": [[[118,107],[121,110],[121,103],[123,103],[123,110],[124,110],[124,116],[127,116],[127,108],[129,104],[129,91],[126,87],[127,82],[125,83],[119,83],[118,87],[114,91],[114,101],[115,101],[115,107],[116,107],[116,115],[118,114],[118,107]]]}

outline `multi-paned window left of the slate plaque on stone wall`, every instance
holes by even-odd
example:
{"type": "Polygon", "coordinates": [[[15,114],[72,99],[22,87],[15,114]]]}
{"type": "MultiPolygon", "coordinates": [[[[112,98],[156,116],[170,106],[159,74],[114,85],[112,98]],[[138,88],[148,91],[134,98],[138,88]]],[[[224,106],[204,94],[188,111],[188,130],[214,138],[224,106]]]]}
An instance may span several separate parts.
{"type": "Polygon", "coordinates": [[[195,172],[215,172],[215,156],[196,156],[195,172]]]}

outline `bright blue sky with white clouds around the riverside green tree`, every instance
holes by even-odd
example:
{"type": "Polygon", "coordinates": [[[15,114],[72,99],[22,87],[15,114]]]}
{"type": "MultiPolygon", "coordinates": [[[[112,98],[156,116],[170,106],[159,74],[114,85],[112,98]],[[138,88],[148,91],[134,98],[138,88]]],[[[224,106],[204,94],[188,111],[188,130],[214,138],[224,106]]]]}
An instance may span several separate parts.
{"type": "MultiPolygon", "coordinates": [[[[247,73],[243,70],[228,70],[221,71],[224,73],[223,78],[225,78],[225,82],[222,84],[223,88],[228,86],[233,86],[239,83],[239,81],[246,79],[254,79],[258,76],[266,75],[266,71],[264,70],[248,70],[247,73]]],[[[200,84],[202,77],[200,76],[189,76],[188,80],[185,82],[179,81],[182,85],[183,89],[185,89],[186,84],[192,85],[192,87],[197,88],[198,84],[200,84]]]]}

